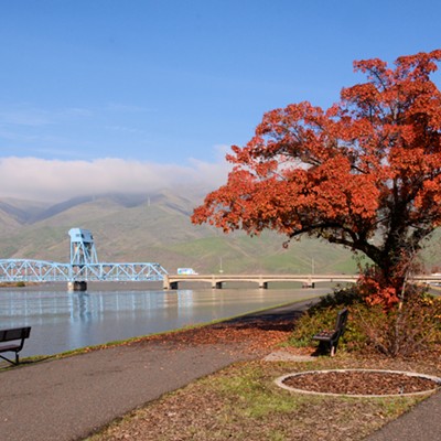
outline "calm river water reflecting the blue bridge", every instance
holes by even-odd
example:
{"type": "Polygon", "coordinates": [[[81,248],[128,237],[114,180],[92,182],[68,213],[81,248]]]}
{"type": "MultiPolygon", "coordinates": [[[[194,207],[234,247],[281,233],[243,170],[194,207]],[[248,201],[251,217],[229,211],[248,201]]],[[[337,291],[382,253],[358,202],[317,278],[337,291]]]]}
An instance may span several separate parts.
{"type": "Polygon", "coordinates": [[[324,289],[1,290],[0,329],[32,326],[21,355],[49,355],[209,322],[324,292],[324,289]]]}

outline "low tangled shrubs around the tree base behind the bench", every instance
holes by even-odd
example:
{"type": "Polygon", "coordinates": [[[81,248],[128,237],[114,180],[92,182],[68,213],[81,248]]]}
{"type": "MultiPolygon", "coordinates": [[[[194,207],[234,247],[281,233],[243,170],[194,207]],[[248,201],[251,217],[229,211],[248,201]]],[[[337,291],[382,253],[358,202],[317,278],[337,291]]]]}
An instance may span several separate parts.
{"type": "Polygon", "coordinates": [[[406,301],[385,311],[368,305],[357,288],[338,290],[310,309],[297,323],[290,338],[294,346],[312,346],[312,336],[333,329],[337,312],[349,310],[346,332],[340,348],[375,349],[387,356],[409,356],[441,343],[441,298],[421,290],[409,290],[406,301]]]}

